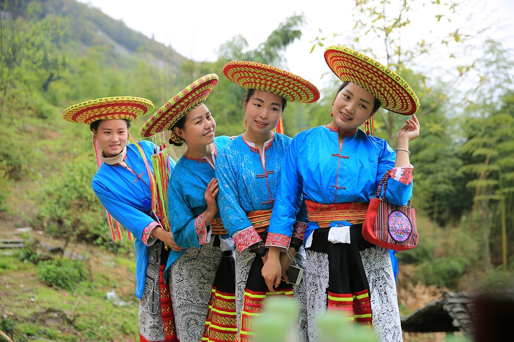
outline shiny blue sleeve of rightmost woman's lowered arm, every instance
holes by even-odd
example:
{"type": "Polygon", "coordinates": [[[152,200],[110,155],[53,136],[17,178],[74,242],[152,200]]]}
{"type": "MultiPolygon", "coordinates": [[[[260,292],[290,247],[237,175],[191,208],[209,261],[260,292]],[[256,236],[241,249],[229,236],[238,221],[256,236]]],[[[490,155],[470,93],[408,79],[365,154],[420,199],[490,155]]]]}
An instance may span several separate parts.
{"type": "Polygon", "coordinates": [[[297,220],[307,222],[307,210],[305,203],[302,203],[303,179],[298,167],[299,143],[301,141],[297,137],[293,138],[282,160],[279,186],[268,230],[270,233],[291,236],[297,220]]]}

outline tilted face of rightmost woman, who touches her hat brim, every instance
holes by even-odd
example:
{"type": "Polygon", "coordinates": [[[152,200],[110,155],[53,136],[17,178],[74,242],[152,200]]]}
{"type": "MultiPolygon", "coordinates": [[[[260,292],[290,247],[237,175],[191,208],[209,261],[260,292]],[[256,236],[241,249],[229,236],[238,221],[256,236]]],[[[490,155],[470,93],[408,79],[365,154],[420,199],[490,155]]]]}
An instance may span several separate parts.
{"type": "Polygon", "coordinates": [[[375,97],[355,83],[348,83],[339,93],[332,105],[334,123],[344,130],[356,130],[373,111],[375,97]]]}

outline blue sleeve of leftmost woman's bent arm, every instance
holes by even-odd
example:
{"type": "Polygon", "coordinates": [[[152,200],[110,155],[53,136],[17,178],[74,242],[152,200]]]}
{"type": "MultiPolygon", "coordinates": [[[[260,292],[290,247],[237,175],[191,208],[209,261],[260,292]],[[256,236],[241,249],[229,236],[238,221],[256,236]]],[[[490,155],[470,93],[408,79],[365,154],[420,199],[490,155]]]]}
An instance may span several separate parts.
{"type": "MultiPolygon", "coordinates": [[[[149,215],[146,215],[135,207],[121,202],[104,184],[93,180],[91,186],[93,186],[93,191],[107,212],[130,231],[132,235],[141,240],[143,230],[155,221],[149,215]]],[[[115,185],[113,184],[113,186],[115,185]]]]}

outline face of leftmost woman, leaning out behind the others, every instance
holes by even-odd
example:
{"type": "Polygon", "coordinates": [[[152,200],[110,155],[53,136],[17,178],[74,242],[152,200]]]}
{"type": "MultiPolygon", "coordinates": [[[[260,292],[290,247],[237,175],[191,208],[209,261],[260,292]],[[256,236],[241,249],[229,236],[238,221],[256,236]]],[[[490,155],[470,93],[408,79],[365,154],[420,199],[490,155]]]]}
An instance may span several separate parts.
{"type": "Polygon", "coordinates": [[[93,131],[105,157],[114,157],[125,148],[128,141],[127,124],[123,120],[102,120],[93,131]]]}

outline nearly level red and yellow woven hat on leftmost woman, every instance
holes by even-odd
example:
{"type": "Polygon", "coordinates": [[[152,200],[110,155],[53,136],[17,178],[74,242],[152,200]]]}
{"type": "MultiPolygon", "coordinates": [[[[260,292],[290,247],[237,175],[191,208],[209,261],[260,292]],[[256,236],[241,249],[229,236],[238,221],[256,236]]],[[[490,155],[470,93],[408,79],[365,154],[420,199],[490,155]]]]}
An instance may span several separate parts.
{"type": "Polygon", "coordinates": [[[63,118],[69,122],[91,124],[97,120],[134,120],[154,110],[150,100],[132,96],[101,98],[78,103],[63,112],[63,118]]]}

